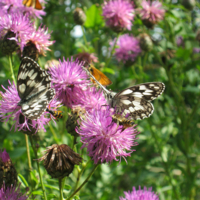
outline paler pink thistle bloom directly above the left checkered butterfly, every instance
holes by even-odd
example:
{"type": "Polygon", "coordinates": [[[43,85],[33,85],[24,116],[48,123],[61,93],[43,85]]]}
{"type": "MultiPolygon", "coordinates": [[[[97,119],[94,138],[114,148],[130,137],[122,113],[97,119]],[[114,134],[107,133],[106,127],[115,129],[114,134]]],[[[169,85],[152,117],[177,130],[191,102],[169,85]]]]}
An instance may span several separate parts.
{"type": "Polygon", "coordinates": [[[38,30],[33,30],[31,33],[25,35],[24,37],[25,43],[31,42],[37,48],[38,53],[43,55],[45,54],[45,50],[50,51],[48,47],[55,42],[49,41],[51,35],[48,33],[48,28],[45,29],[41,26],[38,28],[38,30]]]}

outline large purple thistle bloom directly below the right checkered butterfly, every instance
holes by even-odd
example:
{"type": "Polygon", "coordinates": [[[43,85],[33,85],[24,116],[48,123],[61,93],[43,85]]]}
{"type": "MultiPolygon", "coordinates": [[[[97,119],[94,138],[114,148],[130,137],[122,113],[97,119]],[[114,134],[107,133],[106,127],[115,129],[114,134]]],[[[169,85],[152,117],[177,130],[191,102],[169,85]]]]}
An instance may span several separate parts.
{"type": "Polygon", "coordinates": [[[136,129],[118,126],[112,121],[112,114],[108,106],[94,109],[93,112],[86,113],[80,128],[76,128],[76,132],[81,135],[82,148],[87,148],[95,164],[118,161],[117,157],[121,161],[121,157],[125,159],[135,151],[131,147],[137,145],[136,129]]]}

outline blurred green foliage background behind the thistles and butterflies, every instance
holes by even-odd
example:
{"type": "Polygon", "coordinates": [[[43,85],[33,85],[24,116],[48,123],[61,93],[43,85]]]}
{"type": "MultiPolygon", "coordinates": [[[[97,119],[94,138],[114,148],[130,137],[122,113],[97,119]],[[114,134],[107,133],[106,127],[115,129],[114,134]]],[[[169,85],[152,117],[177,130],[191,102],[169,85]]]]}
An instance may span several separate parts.
{"type": "MultiPolygon", "coordinates": [[[[126,87],[143,82],[160,81],[166,90],[153,101],[153,115],[137,121],[139,145],[127,163],[102,164],[80,191],[80,199],[119,199],[123,191],[135,186],[153,187],[160,194],[161,200],[200,199],[200,54],[193,54],[193,48],[199,47],[196,32],[199,27],[199,2],[192,11],[185,9],[179,1],[163,1],[166,9],[165,18],[154,29],[147,29],[139,16],[135,16],[130,33],[138,36],[146,32],[153,38],[153,50],[143,52],[132,66],[124,66],[112,57],[109,59],[110,42],[117,37],[105,26],[102,19],[103,1],[63,1],[50,0],[46,4],[46,16],[37,23],[43,23],[56,42],[46,57],[39,58],[44,67],[47,60],[61,59],[87,51],[95,53],[99,59],[96,68],[100,68],[113,82],[111,90],[120,91],[126,87]],[[87,21],[83,33],[77,37],[73,20],[73,10],[81,7],[87,21]],[[177,47],[176,38],[182,36],[185,47],[177,47]],[[85,38],[84,38],[85,37],[85,38]],[[173,50],[173,51],[172,51],[173,50]],[[170,57],[170,51],[173,56],[170,57]],[[164,52],[164,53],[163,53],[164,52]],[[103,66],[103,67],[102,67],[103,66]]],[[[81,27],[79,26],[81,29],[81,27]]],[[[122,34],[124,34],[122,33],[122,34]]],[[[0,54],[0,83],[8,86],[11,80],[8,57],[0,54]]],[[[13,55],[14,72],[17,75],[20,59],[13,55]]],[[[2,90],[2,89],[1,89],[2,90]]],[[[3,90],[2,90],[3,91],[3,90]]],[[[39,132],[36,143],[40,145],[38,156],[43,155],[47,146],[64,143],[72,146],[73,138],[67,133],[65,123],[69,109],[62,107],[64,118],[57,124],[51,123],[47,132],[39,132]]],[[[18,173],[21,174],[22,188],[32,187],[36,199],[42,199],[41,185],[34,153],[31,149],[33,171],[32,181],[29,176],[24,134],[11,130],[13,122],[0,123],[0,148],[9,153],[18,173]]],[[[81,143],[77,144],[80,152],[81,143]]],[[[84,153],[84,164],[89,159],[84,153]]],[[[41,165],[41,164],[40,164],[41,165]]],[[[82,167],[82,166],[81,166],[82,167]]],[[[81,177],[87,177],[93,167],[90,162],[81,177]]],[[[47,189],[48,199],[59,199],[58,181],[51,179],[41,165],[42,176],[47,189]]],[[[73,191],[77,176],[76,168],[66,179],[64,197],[73,191]]],[[[76,196],[78,198],[78,195],[76,196]]]]}

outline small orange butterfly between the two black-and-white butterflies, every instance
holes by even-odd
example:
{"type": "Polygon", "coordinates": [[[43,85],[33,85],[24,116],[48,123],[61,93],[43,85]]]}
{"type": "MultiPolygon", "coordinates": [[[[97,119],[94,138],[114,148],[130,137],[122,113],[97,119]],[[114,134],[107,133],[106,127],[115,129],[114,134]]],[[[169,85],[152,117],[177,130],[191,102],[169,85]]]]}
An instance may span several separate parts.
{"type": "MultiPolygon", "coordinates": [[[[103,72],[95,68],[93,64],[89,65],[88,70],[104,87],[112,84],[112,81],[103,72]]],[[[92,82],[95,83],[95,80],[92,80],[92,82]]]]}

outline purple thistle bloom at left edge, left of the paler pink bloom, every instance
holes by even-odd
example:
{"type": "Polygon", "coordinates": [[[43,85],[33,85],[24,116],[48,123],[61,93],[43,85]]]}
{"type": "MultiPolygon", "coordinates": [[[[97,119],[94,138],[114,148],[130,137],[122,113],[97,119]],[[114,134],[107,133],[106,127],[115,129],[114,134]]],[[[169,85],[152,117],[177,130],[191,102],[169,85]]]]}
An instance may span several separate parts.
{"type": "Polygon", "coordinates": [[[24,44],[26,43],[25,36],[33,32],[33,24],[30,22],[27,15],[23,15],[20,12],[5,14],[0,16],[1,38],[7,32],[12,32],[15,34],[15,36],[9,38],[9,40],[15,40],[22,50],[24,44]]]}

